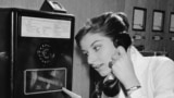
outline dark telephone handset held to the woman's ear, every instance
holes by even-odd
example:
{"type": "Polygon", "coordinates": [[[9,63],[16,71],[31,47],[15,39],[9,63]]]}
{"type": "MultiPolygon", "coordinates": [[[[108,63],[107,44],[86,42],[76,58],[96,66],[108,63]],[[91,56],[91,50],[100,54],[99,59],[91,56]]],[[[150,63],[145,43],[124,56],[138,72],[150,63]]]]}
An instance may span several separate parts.
{"type": "MultiPolygon", "coordinates": [[[[119,34],[114,38],[113,42],[115,48],[122,46],[127,50],[132,40],[128,34],[119,34]]],[[[102,91],[109,97],[114,97],[120,93],[121,88],[124,94],[127,95],[123,84],[115,76],[111,75],[107,82],[103,82],[102,91]]]]}

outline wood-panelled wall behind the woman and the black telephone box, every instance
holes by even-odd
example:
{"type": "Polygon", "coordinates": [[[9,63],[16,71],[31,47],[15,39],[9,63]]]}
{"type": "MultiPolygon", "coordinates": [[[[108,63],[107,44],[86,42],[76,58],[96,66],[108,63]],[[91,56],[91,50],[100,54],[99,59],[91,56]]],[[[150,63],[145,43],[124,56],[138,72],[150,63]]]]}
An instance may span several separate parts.
{"type": "MultiPolygon", "coordinates": [[[[132,30],[130,35],[140,34],[146,36],[146,39],[135,40],[135,45],[144,45],[147,51],[166,50],[170,57],[174,58],[174,41],[169,40],[169,37],[174,36],[169,34],[169,19],[170,12],[174,12],[173,0],[52,0],[58,1],[64,5],[67,13],[75,15],[75,34],[84,25],[86,20],[96,16],[105,11],[125,11],[128,15],[129,22],[133,19],[133,7],[140,7],[147,9],[147,27],[145,32],[132,30]],[[165,11],[165,23],[163,33],[151,32],[152,10],[165,11]],[[151,39],[153,35],[163,36],[164,39],[154,41],[151,39]]],[[[39,10],[44,0],[0,0],[1,8],[25,8],[39,10]]],[[[76,45],[74,45],[74,66],[73,66],[73,91],[89,98],[89,68],[84,63],[83,57],[77,52],[76,45]]]]}

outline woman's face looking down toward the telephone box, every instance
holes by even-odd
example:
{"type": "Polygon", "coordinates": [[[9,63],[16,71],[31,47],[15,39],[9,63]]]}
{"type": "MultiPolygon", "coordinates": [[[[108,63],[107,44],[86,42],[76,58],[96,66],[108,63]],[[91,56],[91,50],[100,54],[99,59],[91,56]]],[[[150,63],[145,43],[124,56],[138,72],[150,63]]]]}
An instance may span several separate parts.
{"type": "Polygon", "coordinates": [[[101,76],[107,76],[111,73],[109,62],[115,53],[116,48],[113,41],[101,34],[86,34],[80,40],[83,53],[87,56],[87,62],[101,76]]]}

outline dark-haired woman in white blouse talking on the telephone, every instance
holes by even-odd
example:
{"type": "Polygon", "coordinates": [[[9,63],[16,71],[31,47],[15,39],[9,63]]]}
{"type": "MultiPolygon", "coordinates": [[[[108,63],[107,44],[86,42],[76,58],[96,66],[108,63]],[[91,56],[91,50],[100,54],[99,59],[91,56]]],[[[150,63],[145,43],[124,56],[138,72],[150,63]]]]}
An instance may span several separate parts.
{"type": "MultiPolygon", "coordinates": [[[[103,84],[117,78],[113,98],[174,98],[174,62],[166,57],[142,57],[132,45],[124,13],[103,13],[92,17],[76,35],[77,46],[103,84]]],[[[73,98],[80,96],[63,88],[73,98]]],[[[101,98],[110,97],[103,90],[101,98]]]]}

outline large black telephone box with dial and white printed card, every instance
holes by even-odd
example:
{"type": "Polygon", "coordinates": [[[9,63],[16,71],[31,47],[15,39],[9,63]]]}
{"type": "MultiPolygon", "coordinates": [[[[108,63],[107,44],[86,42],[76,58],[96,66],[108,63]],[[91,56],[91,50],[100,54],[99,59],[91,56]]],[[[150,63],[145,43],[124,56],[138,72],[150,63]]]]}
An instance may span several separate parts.
{"type": "Polygon", "coordinates": [[[74,16],[0,9],[0,98],[65,98],[72,89],[74,16]]]}

